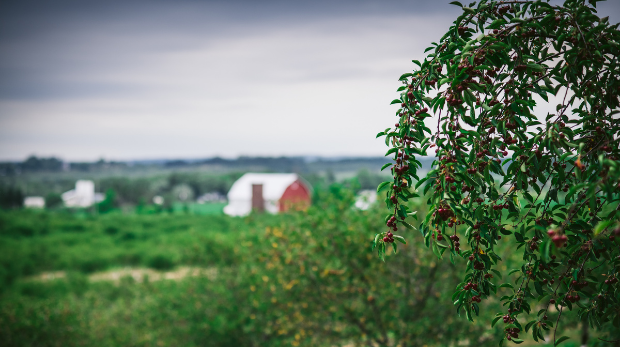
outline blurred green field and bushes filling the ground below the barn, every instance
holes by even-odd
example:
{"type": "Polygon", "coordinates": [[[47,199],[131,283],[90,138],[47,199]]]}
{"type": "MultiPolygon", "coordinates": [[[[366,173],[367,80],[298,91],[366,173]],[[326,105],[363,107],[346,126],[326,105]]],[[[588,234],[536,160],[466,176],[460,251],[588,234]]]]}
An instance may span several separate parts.
{"type": "Polygon", "coordinates": [[[496,346],[498,303],[474,324],[454,315],[463,260],[405,230],[412,242],[379,261],[382,207],[353,209],[353,191],[245,218],[2,211],[2,346],[496,346]]]}

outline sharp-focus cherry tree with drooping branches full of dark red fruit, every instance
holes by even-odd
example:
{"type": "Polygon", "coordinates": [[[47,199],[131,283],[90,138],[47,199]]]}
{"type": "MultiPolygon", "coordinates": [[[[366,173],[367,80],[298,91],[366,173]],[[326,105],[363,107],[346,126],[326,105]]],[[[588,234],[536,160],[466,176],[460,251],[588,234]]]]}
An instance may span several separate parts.
{"type": "Polygon", "coordinates": [[[473,320],[478,303],[510,290],[492,322],[504,323],[501,343],[529,333],[557,345],[567,310],[620,338],[620,32],[596,2],[452,2],[463,14],[400,77],[397,122],[377,135],[394,160],[378,187],[390,210],[379,256],[405,242],[395,233],[412,228],[405,202],[420,188],[424,242],[467,261],[457,312],[473,320]],[[420,178],[416,156],[427,155],[420,178]],[[507,274],[502,242],[522,255],[507,274]]]}

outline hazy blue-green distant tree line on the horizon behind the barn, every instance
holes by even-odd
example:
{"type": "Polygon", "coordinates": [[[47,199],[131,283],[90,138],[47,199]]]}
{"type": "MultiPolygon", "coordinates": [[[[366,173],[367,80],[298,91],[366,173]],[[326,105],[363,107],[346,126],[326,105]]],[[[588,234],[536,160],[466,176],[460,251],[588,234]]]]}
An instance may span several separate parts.
{"type": "Polygon", "coordinates": [[[373,157],[67,163],[31,156],[23,162],[0,163],[0,208],[20,207],[25,196],[43,196],[48,208],[62,207],[61,194],[73,189],[78,179],[93,180],[97,192],[113,196],[106,201],[108,209],[151,204],[155,196],[162,196],[165,205],[195,201],[206,193],[225,196],[248,171],[296,172],[316,188],[339,181],[356,190],[374,189],[385,178],[379,172],[382,163],[383,159],[373,157]]]}

